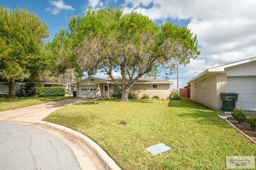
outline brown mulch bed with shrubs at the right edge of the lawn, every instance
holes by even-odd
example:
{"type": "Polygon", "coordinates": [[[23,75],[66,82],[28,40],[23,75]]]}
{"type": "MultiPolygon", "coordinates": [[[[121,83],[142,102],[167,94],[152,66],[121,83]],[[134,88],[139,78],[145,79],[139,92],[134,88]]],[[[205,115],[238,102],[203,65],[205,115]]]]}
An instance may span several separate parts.
{"type": "Polygon", "coordinates": [[[240,129],[242,132],[244,132],[246,135],[248,135],[249,137],[251,137],[254,141],[256,141],[256,130],[253,130],[249,123],[247,122],[241,122],[240,124],[238,123],[238,121],[236,119],[234,119],[233,117],[229,117],[228,121],[230,121],[230,123],[232,123],[234,126],[236,126],[238,129],[240,129]]]}

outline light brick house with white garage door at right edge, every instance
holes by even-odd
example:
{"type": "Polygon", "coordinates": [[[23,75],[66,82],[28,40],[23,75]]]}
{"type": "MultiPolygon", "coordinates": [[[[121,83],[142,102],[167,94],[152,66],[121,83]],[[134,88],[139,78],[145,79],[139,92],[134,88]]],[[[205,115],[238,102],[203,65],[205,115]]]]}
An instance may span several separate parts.
{"type": "Polygon", "coordinates": [[[210,109],[221,110],[221,92],[238,94],[236,108],[256,111],[256,57],[209,68],[187,82],[190,98],[210,109]]]}

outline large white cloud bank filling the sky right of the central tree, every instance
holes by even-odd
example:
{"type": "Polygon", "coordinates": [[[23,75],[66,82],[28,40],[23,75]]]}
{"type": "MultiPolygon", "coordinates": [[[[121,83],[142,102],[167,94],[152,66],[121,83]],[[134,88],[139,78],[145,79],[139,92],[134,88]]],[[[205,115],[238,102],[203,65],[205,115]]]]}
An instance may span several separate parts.
{"type": "Polygon", "coordinates": [[[184,67],[188,71],[184,75],[191,76],[256,57],[255,6],[255,0],[124,0],[122,4],[124,13],[137,11],[152,20],[190,20],[188,28],[197,35],[201,51],[184,67]]]}

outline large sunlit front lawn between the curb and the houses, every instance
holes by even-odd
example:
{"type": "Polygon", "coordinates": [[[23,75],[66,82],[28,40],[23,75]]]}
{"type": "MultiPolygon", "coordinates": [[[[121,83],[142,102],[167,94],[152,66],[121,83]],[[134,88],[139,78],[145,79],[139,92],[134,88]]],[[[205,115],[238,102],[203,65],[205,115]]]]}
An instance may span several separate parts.
{"type": "Polygon", "coordinates": [[[219,170],[226,169],[226,156],[256,154],[256,145],[220,114],[185,98],[96,100],[58,109],[44,121],[90,137],[123,170],[219,170]],[[146,147],[158,143],[171,150],[155,156],[147,152],[146,147]]]}

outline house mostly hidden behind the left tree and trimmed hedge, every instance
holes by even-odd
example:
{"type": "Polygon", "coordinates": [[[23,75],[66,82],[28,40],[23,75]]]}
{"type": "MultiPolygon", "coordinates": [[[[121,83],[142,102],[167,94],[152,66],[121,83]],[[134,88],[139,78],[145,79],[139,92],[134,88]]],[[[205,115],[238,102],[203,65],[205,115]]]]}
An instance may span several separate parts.
{"type": "MultiPolygon", "coordinates": [[[[20,90],[20,86],[26,85],[29,82],[29,78],[24,77],[22,82],[15,81],[14,82],[14,92],[18,92],[20,90]]],[[[53,80],[42,80],[42,84],[45,87],[63,87],[65,88],[67,85],[61,82],[53,81],[53,80]]],[[[8,94],[8,83],[6,80],[0,80],[0,94],[8,94]]]]}

